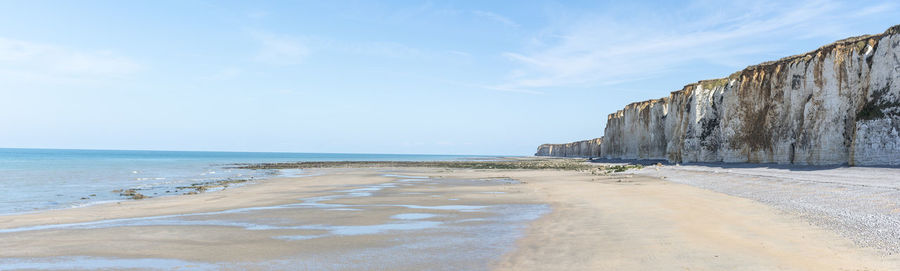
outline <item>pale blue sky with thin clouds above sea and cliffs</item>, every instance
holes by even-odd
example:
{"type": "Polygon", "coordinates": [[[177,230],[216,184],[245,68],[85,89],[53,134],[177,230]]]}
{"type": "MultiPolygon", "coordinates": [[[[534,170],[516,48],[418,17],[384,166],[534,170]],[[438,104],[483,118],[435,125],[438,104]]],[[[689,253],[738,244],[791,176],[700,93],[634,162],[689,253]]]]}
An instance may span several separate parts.
{"type": "Polygon", "coordinates": [[[531,155],[896,1],[0,1],[0,147],[531,155]]]}

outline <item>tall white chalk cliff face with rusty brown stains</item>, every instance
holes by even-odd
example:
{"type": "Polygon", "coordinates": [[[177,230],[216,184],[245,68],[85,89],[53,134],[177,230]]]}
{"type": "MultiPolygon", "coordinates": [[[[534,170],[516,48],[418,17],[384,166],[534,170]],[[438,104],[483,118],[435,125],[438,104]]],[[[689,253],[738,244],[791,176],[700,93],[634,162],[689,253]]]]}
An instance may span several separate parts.
{"type": "Polygon", "coordinates": [[[900,26],[690,84],[607,120],[606,158],[900,165],[900,26]]]}

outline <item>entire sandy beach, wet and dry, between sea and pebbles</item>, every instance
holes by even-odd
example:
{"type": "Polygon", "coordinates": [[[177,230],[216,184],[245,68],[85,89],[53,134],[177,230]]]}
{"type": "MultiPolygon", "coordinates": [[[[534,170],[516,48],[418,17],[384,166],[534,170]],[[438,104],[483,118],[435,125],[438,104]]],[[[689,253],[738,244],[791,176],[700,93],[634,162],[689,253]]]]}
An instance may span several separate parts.
{"type": "MultiPolygon", "coordinates": [[[[692,169],[710,174],[706,168],[692,169]]],[[[590,170],[305,169],[305,177],[212,193],[0,216],[0,266],[900,268],[889,250],[865,246],[782,205],[670,180],[691,179],[685,172],[674,166],[600,175],[590,170]]]]}

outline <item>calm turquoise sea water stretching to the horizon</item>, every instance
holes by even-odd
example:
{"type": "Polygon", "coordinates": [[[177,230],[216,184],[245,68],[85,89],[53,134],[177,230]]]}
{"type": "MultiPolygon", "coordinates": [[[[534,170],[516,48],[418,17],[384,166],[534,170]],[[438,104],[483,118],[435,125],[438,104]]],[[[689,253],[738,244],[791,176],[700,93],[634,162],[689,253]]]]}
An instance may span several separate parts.
{"type": "Polygon", "coordinates": [[[140,193],[155,197],[174,195],[175,187],[198,182],[297,174],[296,171],[225,168],[234,163],[435,161],[473,157],[478,156],[0,148],[0,214],[123,200],[124,197],[113,192],[117,189],[141,189],[140,193]]]}

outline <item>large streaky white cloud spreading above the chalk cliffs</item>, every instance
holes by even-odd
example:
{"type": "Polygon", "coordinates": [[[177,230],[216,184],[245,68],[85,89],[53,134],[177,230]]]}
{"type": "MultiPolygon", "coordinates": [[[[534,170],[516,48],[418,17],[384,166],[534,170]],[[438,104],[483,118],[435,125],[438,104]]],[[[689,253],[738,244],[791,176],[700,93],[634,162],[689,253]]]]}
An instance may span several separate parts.
{"type": "MultiPolygon", "coordinates": [[[[517,67],[497,89],[595,86],[645,79],[691,63],[749,65],[749,56],[783,50],[782,40],[829,37],[860,14],[896,11],[875,5],[857,13],[831,1],[694,2],[676,18],[594,14],[545,29],[520,52],[502,55],[517,67]],[[707,3],[708,4],[708,3],[707,3]],[[677,25],[671,25],[672,21],[677,25]]],[[[858,8],[857,8],[858,9],[858,8]]],[[[810,48],[811,49],[811,48],[810,48]]],[[[701,78],[697,78],[701,79],[701,78]]]]}

